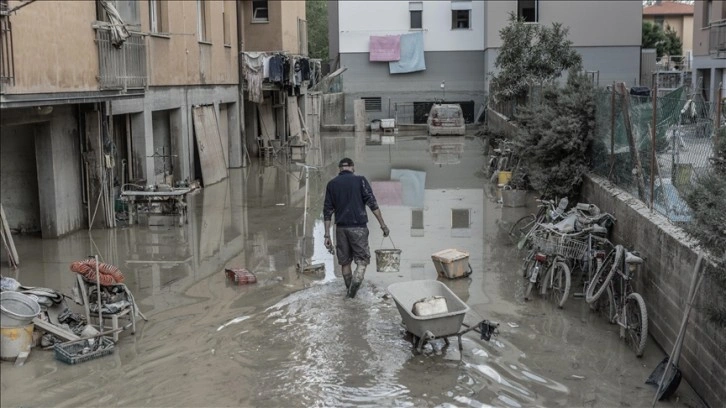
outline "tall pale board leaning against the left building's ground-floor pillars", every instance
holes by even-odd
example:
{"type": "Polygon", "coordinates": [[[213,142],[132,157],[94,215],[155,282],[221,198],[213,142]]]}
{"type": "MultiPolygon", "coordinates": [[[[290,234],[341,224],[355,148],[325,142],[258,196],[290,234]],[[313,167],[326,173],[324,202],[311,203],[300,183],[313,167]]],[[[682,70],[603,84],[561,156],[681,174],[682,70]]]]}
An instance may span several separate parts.
{"type": "Polygon", "coordinates": [[[202,180],[206,186],[227,178],[227,161],[219,136],[214,106],[195,106],[192,108],[192,113],[199,161],[202,167],[202,180]]]}

